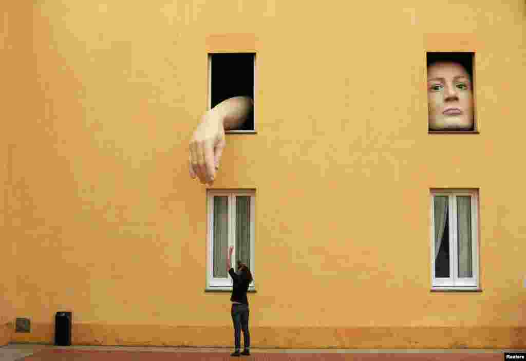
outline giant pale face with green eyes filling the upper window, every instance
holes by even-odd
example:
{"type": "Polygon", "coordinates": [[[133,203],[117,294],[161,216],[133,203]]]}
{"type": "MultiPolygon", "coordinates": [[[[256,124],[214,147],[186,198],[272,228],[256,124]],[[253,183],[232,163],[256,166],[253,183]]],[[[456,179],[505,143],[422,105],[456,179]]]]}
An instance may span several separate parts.
{"type": "Polygon", "coordinates": [[[461,64],[428,66],[428,110],[430,130],[473,130],[473,86],[461,64]]]}

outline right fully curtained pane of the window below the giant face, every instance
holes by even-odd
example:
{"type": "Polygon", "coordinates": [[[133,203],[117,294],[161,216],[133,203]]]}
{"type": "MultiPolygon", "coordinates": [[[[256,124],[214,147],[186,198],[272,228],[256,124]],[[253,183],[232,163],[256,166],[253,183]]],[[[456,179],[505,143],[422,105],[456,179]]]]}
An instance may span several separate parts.
{"type": "Polygon", "coordinates": [[[473,277],[471,255],[471,197],[457,197],[457,240],[459,277],[473,277]]]}

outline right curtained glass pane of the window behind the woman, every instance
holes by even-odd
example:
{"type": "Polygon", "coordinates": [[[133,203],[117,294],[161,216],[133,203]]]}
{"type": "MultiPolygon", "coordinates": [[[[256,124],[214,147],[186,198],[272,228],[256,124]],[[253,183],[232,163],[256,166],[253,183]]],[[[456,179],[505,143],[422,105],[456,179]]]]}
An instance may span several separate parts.
{"type": "Polygon", "coordinates": [[[250,268],[250,197],[236,197],[236,257],[250,268]]]}

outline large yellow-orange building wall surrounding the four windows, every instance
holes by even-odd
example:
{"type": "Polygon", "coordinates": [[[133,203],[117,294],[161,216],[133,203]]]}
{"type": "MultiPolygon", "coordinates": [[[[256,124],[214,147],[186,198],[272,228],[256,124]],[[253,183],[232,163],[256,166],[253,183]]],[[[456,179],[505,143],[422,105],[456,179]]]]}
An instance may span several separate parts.
{"type": "Polygon", "coordinates": [[[72,311],[77,345],[232,345],[188,142],[208,51],[256,51],[257,134],[227,135],[213,186],[256,189],[252,345],[526,347],[522,0],[16,10],[1,302],[32,330],[12,342],[53,343],[72,311]],[[427,50],[476,51],[479,134],[428,134],[427,50]],[[430,292],[430,188],[480,190],[482,292],[430,292]]]}

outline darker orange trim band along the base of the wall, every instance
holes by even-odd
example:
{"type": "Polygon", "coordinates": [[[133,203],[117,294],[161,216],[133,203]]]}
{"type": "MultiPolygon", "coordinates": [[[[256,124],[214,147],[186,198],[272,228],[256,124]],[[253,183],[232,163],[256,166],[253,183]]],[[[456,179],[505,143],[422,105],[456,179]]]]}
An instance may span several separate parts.
{"type": "MultiPolygon", "coordinates": [[[[32,324],[12,342],[54,342],[50,324],[32,324]]],[[[253,347],[278,348],[526,348],[526,327],[253,327],[253,347]]],[[[73,345],[232,346],[232,327],[88,325],[72,329],[73,345]]]]}

